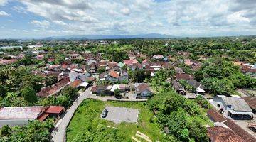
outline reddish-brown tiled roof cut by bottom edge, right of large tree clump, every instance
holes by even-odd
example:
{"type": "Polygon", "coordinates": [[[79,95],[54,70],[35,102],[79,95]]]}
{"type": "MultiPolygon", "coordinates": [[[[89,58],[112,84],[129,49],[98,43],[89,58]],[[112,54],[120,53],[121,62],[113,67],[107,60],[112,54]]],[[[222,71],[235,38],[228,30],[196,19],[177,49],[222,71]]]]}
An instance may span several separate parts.
{"type": "Polygon", "coordinates": [[[207,136],[212,142],[246,142],[233,130],[223,126],[213,126],[207,128],[207,136]]]}

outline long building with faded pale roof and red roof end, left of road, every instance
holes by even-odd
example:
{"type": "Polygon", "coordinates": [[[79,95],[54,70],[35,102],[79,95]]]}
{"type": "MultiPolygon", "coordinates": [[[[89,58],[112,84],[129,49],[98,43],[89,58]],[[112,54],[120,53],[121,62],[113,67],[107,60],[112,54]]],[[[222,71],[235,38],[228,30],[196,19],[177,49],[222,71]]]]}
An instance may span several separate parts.
{"type": "Polygon", "coordinates": [[[58,106],[2,107],[0,108],[0,128],[4,125],[23,126],[30,120],[44,121],[47,117],[58,117],[65,111],[58,106]]]}

